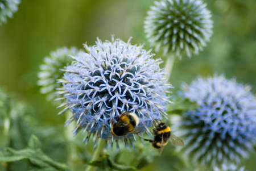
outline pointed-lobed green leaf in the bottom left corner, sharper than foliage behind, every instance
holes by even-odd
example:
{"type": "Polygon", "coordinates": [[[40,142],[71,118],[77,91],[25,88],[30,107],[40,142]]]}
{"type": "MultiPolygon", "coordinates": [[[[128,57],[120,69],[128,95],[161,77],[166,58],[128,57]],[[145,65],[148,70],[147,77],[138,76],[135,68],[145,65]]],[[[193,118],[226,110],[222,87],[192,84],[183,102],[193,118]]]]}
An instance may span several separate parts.
{"type": "Polygon", "coordinates": [[[40,147],[40,141],[36,136],[32,135],[28,141],[27,148],[20,150],[6,148],[0,152],[0,161],[15,162],[27,159],[30,161],[30,167],[33,170],[69,170],[65,164],[56,162],[45,155],[40,147]]]}

